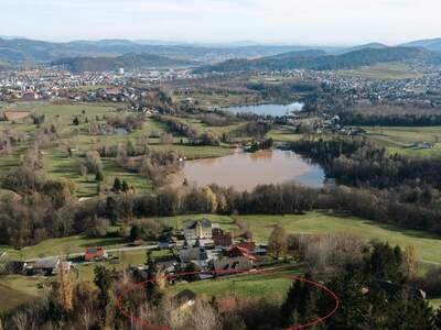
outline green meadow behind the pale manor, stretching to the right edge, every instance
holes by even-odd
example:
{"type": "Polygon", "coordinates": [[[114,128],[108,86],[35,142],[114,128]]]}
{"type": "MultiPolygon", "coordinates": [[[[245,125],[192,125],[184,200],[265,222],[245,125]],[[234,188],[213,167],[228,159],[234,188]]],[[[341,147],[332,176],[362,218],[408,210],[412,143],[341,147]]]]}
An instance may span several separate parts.
{"type": "MultiPolygon", "coordinates": [[[[203,217],[179,216],[160,219],[176,228],[183,220],[203,217]]],[[[237,230],[230,217],[212,215],[205,217],[219,223],[225,230],[237,230]]],[[[394,245],[398,244],[401,248],[413,245],[419,260],[441,263],[441,237],[421,231],[404,230],[361,218],[314,211],[305,216],[240,216],[239,220],[248,223],[257,242],[267,242],[273,227],[281,224],[289,233],[348,233],[365,240],[377,239],[394,245]]]]}

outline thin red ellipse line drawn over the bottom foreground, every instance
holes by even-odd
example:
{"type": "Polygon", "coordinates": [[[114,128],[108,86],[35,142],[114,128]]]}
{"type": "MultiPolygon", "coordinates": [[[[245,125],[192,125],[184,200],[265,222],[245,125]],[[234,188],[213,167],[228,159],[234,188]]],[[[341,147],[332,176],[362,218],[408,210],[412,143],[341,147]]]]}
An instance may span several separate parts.
{"type": "MultiPolygon", "coordinates": [[[[128,288],[126,288],[119,296],[117,296],[117,298],[115,299],[115,306],[116,308],[126,317],[128,318],[131,322],[137,323],[138,326],[142,326],[146,327],[148,329],[151,330],[172,330],[168,327],[162,327],[162,326],[155,326],[155,324],[150,324],[148,323],[146,320],[138,318],[136,316],[132,316],[130,312],[128,312],[127,310],[123,309],[123,307],[121,306],[121,299],[122,297],[127,296],[127,294],[129,294],[130,292],[135,290],[138,287],[142,287],[148,283],[151,282],[158,282],[159,279],[171,279],[171,278],[176,278],[176,277],[181,277],[181,276],[185,276],[185,275],[196,275],[196,274],[248,274],[248,275],[260,275],[260,274],[271,274],[269,272],[266,271],[254,271],[254,272],[249,272],[249,271],[200,271],[200,272],[187,272],[187,273],[178,273],[174,275],[163,275],[160,277],[154,277],[152,279],[149,280],[144,280],[144,282],[140,282],[140,283],[136,283],[131,286],[129,286],[128,288]]],[[[299,326],[293,326],[293,327],[289,327],[289,328],[284,328],[283,330],[299,330],[299,329],[305,329],[312,326],[316,326],[321,322],[323,322],[324,320],[329,319],[330,317],[332,317],[338,309],[340,306],[340,298],[338,296],[332,292],[331,289],[329,289],[326,286],[324,286],[323,284],[320,284],[318,282],[313,282],[297,275],[283,275],[282,277],[286,278],[290,278],[290,279],[294,279],[294,280],[300,280],[303,283],[308,283],[312,286],[318,287],[319,289],[323,290],[324,293],[326,293],[327,295],[330,295],[334,301],[335,301],[335,306],[334,308],[327,312],[325,316],[323,317],[319,317],[316,320],[312,320],[305,324],[299,324],[299,326]]]]}

